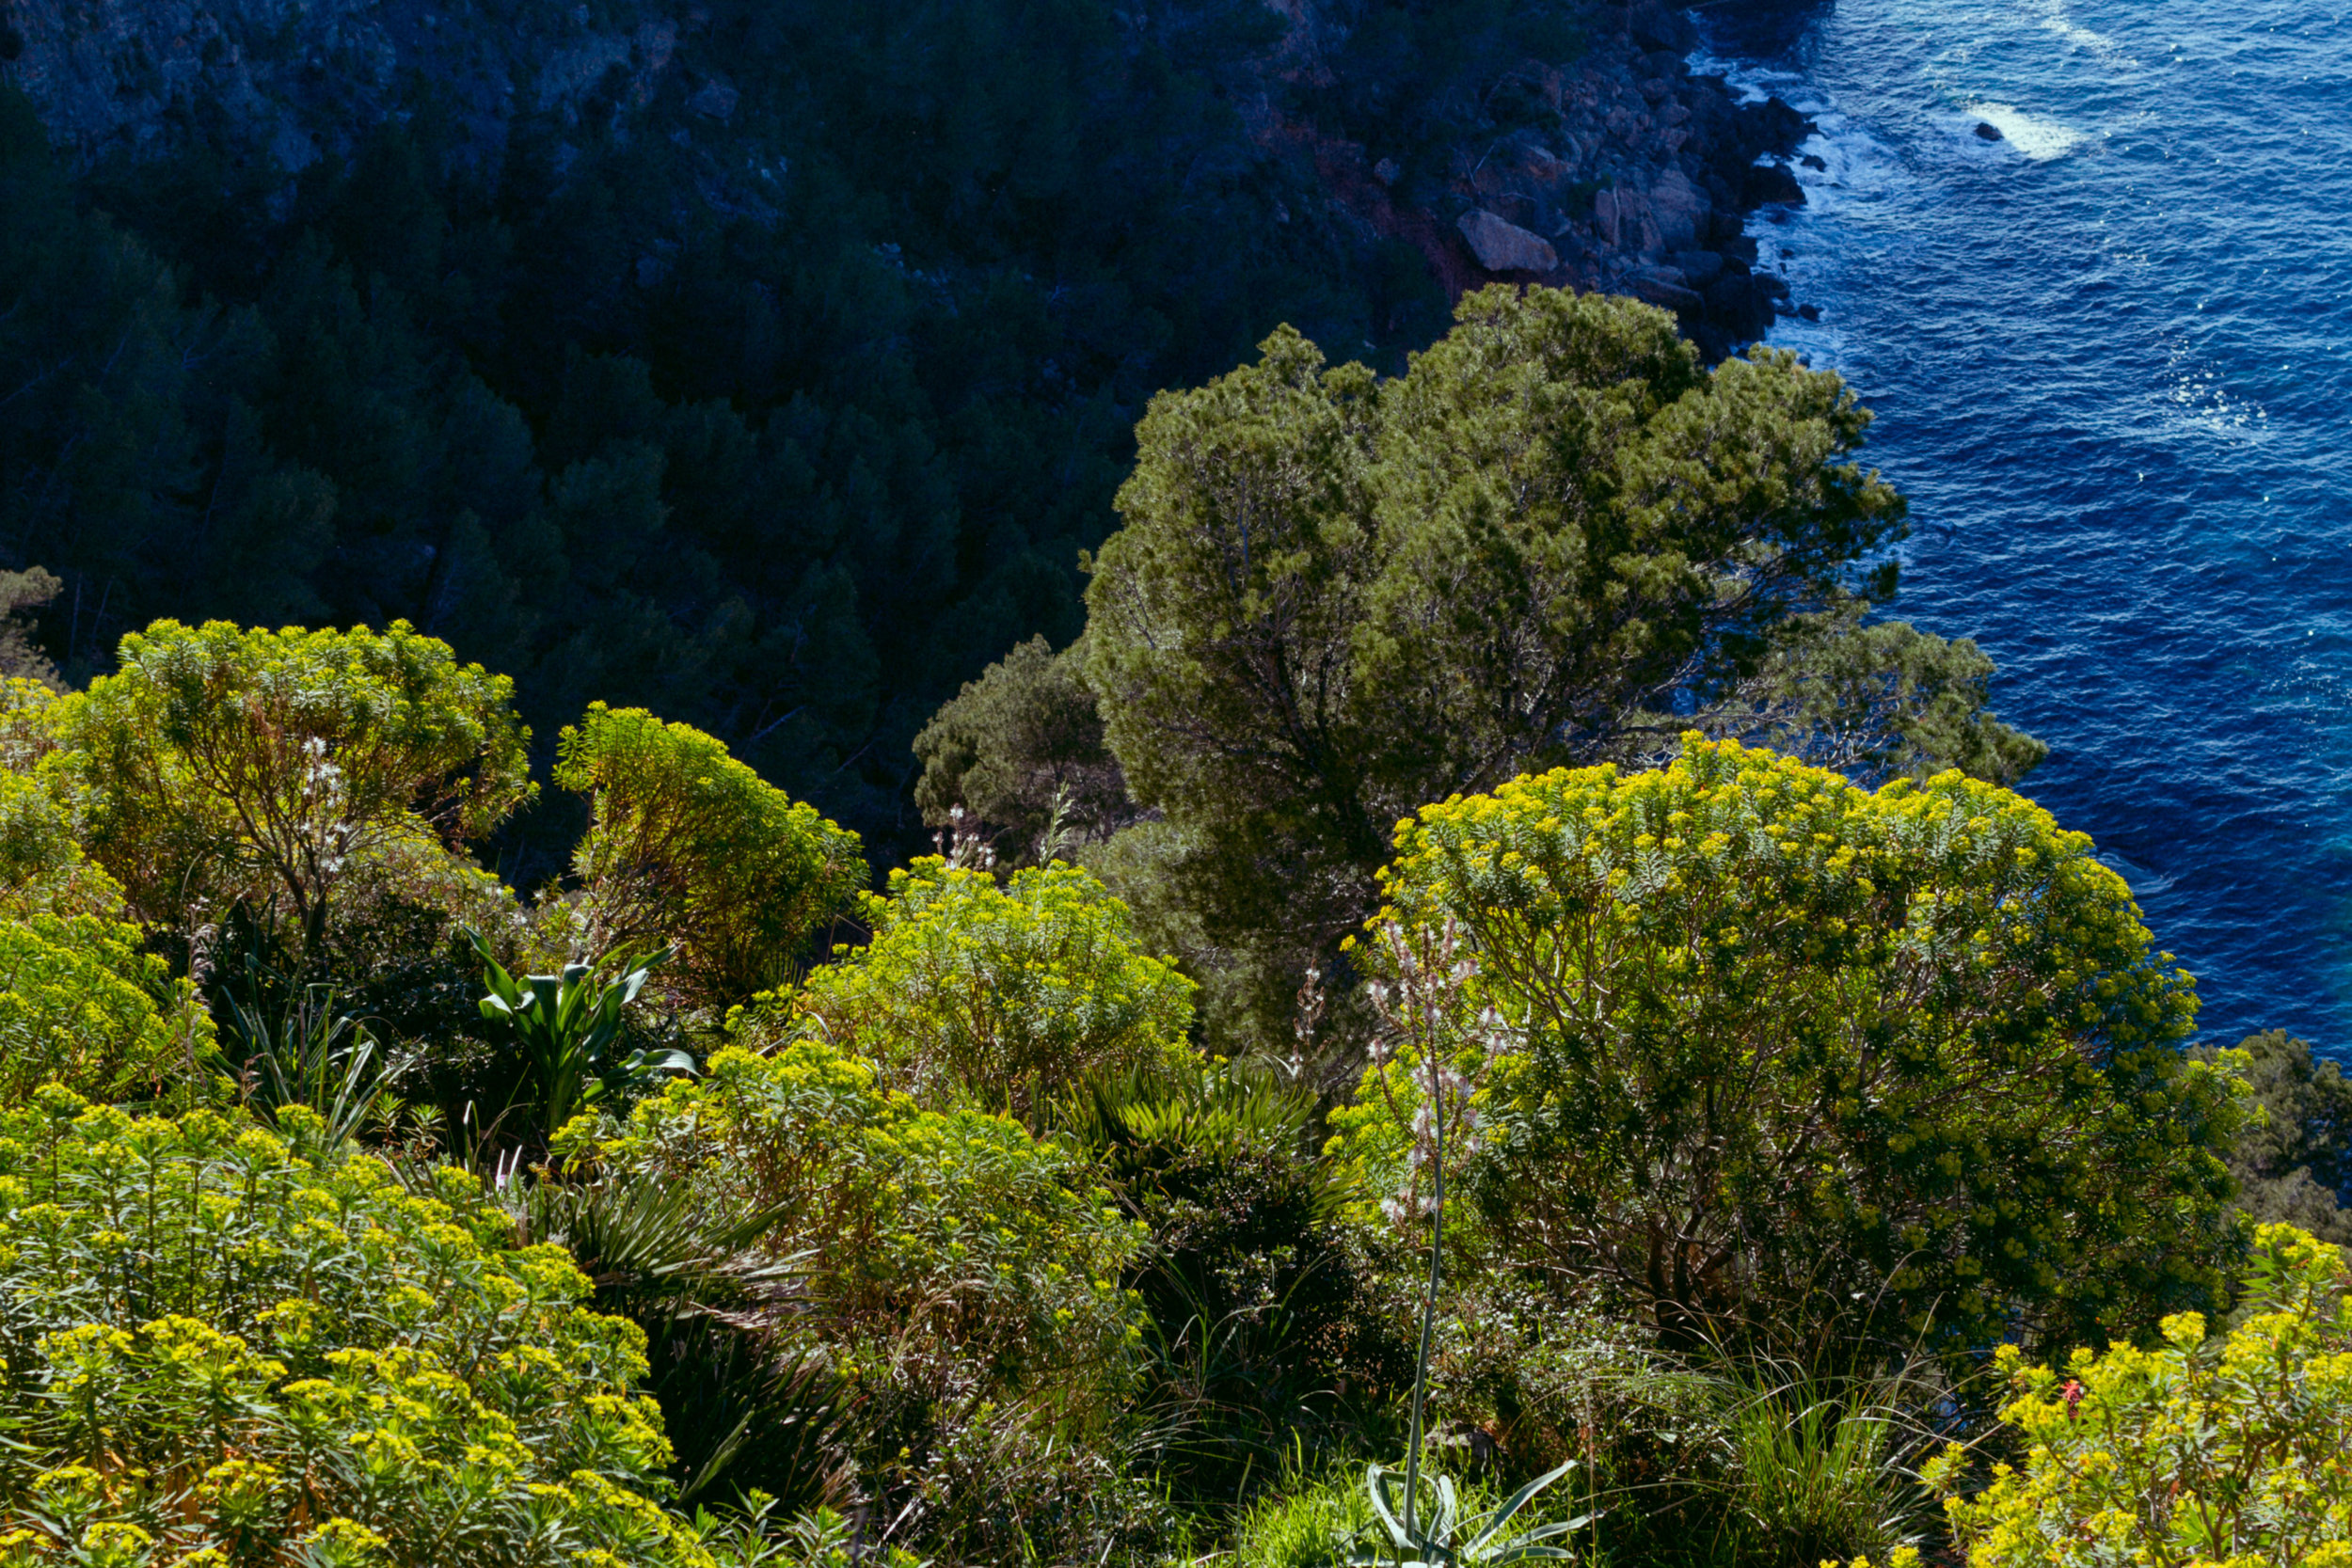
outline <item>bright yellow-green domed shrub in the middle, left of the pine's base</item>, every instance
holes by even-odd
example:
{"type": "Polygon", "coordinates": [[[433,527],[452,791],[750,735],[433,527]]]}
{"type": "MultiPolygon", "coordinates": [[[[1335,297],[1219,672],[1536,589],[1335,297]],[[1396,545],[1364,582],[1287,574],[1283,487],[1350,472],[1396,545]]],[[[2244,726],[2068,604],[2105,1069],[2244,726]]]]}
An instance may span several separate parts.
{"type": "Polygon", "coordinates": [[[976,1095],[1030,1117],[1089,1072],[1190,1058],[1192,983],[1143,952],[1127,905],[1073,865],[997,886],[938,856],[866,898],[873,943],[793,999],[924,1103],[976,1095]]]}

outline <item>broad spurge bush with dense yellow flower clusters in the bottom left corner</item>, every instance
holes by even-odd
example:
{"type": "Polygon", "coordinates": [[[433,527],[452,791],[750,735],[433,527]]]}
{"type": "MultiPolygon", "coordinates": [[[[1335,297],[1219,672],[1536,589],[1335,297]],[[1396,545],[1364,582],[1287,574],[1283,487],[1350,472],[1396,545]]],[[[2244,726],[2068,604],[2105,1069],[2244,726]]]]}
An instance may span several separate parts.
{"type": "Polygon", "coordinates": [[[0,1563],[713,1563],[572,1258],[280,1119],[0,1112],[0,1563]]]}

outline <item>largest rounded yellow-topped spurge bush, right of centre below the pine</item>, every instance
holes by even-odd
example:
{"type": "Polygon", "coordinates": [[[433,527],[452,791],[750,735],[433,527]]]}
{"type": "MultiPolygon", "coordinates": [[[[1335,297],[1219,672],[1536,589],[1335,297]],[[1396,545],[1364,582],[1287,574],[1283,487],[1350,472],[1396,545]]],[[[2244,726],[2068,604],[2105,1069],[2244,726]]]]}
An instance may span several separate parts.
{"type": "MultiPolygon", "coordinates": [[[[2180,1056],[2190,978],[2030,802],[1693,736],[1658,773],[1430,806],[1397,846],[1395,917],[1458,922],[1477,964],[1439,1048],[1477,1081],[1498,1265],[1670,1342],[1964,1352],[2218,1291],[2244,1091],[2180,1056]]],[[[1376,1081],[1406,1067],[1334,1117],[1367,1204],[1406,1185],[1418,1100],[1376,1081]]]]}

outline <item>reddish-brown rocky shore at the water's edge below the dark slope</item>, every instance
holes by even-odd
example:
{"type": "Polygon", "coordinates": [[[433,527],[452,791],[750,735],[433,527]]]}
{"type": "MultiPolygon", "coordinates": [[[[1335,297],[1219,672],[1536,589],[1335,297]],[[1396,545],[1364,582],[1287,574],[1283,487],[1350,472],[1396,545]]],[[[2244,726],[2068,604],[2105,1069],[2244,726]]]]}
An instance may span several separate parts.
{"type": "Polygon", "coordinates": [[[1439,200],[1399,200],[1395,160],[1357,143],[1317,146],[1317,167],[1454,296],[1484,282],[1632,294],[1672,310],[1710,360],[1738,353],[1788,310],[1788,284],[1757,270],[1748,214],[1804,202],[1788,160],[1813,122],[1693,73],[1698,31],[1661,0],[1592,7],[1585,28],[1583,59],[1512,73],[1550,113],[1456,148],[1439,200]]]}

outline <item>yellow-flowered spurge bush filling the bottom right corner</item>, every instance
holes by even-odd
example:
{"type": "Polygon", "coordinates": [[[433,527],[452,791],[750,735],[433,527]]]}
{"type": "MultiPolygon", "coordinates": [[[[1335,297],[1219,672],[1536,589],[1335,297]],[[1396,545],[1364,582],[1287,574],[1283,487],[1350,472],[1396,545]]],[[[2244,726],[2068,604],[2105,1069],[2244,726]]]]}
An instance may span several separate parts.
{"type": "Polygon", "coordinates": [[[2227,1333],[2183,1312],[2065,1371],[2004,1352],[2025,1462],[1976,1495],[1959,1448],[1926,1467],[1971,1568],[2352,1563],[2347,1286],[2333,1246],[2265,1225],[2227,1333]]]}

